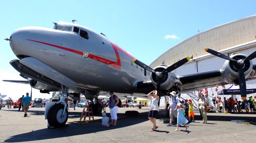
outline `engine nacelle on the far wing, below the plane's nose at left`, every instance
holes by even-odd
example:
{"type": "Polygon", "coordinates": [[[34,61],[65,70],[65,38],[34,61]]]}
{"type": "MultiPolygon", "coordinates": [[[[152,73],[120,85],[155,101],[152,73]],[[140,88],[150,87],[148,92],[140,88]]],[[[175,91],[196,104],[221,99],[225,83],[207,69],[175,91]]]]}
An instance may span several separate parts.
{"type": "MultiPolygon", "coordinates": [[[[30,80],[29,84],[32,88],[38,89],[40,91],[41,90],[42,91],[44,91],[44,90],[47,91],[45,93],[48,93],[48,91],[59,91],[59,89],[57,89],[57,88],[54,88],[50,85],[44,84],[42,82],[39,82],[39,81],[36,81],[36,80],[33,80],[33,79],[30,80]]],[[[41,93],[44,93],[44,92],[41,92],[41,93]]]]}

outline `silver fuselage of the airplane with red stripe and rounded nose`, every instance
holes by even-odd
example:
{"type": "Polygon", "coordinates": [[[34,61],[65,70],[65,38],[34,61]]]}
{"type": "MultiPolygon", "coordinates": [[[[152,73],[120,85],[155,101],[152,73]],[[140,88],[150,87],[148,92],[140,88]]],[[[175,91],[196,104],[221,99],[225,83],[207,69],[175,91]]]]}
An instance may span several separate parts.
{"type": "Polygon", "coordinates": [[[144,69],[132,62],[134,57],[87,27],[89,39],[73,31],[44,27],[22,27],[11,35],[10,46],[15,55],[34,57],[52,69],[76,82],[77,88],[120,93],[142,92],[137,81],[150,80],[144,69]],[[88,57],[84,57],[84,52],[88,57]]]}

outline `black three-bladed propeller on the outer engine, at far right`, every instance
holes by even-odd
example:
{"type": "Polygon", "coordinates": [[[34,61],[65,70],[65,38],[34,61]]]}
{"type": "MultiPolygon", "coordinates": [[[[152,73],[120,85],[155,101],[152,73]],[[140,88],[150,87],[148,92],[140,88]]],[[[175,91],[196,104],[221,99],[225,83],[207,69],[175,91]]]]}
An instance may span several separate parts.
{"type": "Polygon", "coordinates": [[[215,55],[215,56],[220,57],[222,59],[226,59],[226,60],[233,61],[233,62],[236,63],[236,66],[239,67],[238,80],[239,80],[240,94],[241,94],[242,100],[245,100],[246,99],[246,80],[245,80],[244,70],[243,70],[244,62],[254,59],[256,57],[256,51],[253,52],[252,54],[250,54],[245,59],[235,60],[235,59],[232,59],[232,58],[228,57],[227,55],[224,55],[224,54],[219,53],[217,51],[214,51],[212,49],[205,48],[204,50],[206,52],[212,54],[212,55],[215,55]]]}

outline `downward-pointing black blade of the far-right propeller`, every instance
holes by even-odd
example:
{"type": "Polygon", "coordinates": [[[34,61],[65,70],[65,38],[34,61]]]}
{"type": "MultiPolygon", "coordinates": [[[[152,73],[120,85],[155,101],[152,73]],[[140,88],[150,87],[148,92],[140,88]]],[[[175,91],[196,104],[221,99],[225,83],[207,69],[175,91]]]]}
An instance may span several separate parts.
{"type": "Polygon", "coordinates": [[[239,74],[238,80],[239,80],[241,98],[242,100],[245,100],[246,99],[246,82],[245,82],[244,71],[242,69],[242,66],[240,66],[238,74],[239,74]]]}

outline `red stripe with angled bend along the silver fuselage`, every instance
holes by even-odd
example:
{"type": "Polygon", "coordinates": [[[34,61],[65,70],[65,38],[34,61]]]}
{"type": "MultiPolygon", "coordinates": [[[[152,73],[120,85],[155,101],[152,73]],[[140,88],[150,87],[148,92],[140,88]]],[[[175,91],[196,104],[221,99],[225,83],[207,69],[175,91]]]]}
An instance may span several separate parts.
{"type": "MultiPolygon", "coordinates": [[[[74,49],[69,49],[69,48],[66,48],[66,47],[62,47],[62,46],[58,46],[58,45],[53,45],[53,44],[50,44],[50,43],[45,43],[45,42],[41,42],[41,41],[35,41],[35,40],[30,40],[30,39],[26,39],[26,40],[29,40],[29,41],[34,41],[34,42],[37,42],[37,43],[42,43],[42,44],[45,44],[45,45],[49,45],[49,46],[52,46],[52,47],[56,47],[56,48],[59,48],[59,49],[63,49],[63,50],[66,50],[66,51],[70,51],[72,53],[76,53],[78,55],[83,55],[83,52],[82,51],[77,51],[77,50],[74,50],[74,49]]],[[[88,57],[90,59],[94,59],[96,61],[99,61],[99,62],[102,62],[102,63],[105,63],[107,65],[110,65],[112,67],[115,67],[115,68],[118,68],[118,69],[121,69],[121,60],[120,60],[120,56],[118,54],[118,51],[124,53],[125,55],[127,55],[128,57],[132,58],[132,59],[135,59],[132,55],[130,55],[129,53],[127,53],[126,51],[124,51],[123,49],[121,49],[120,47],[114,45],[113,43],[110,43],[112,45],[112,47],[114,48],[114,51],[116,53],[116,59],[117,59],[117,62],[114,62],[114,61],[110,61],[108,59],[105,59],[105,58],[102,58],[102,57],[98,57],[96,55],[92,55],[92,54],[89,54],[88,57]],[[118,51],[117,51],[118,50],[118,51]]]]}

